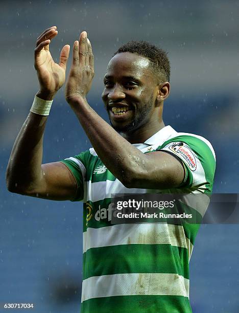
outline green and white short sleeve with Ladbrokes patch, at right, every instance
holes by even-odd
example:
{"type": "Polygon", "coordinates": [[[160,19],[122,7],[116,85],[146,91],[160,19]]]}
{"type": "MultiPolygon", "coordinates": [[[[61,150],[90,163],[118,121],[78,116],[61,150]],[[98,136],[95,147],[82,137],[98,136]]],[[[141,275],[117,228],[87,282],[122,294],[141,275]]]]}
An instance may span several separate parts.
{"type": "Polygon", "coordinates": [[[208,141],[199,137],[178,136],[165,142],[159,150],[171,153],[183,162],[186,170],[184,187],[211,193],[216,157],[208,141]]]}

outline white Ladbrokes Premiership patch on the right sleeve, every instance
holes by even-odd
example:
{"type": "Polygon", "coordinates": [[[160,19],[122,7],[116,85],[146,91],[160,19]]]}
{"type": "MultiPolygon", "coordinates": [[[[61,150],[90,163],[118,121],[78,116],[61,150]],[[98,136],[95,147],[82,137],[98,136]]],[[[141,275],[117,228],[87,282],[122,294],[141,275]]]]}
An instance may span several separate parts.
{"type": "Polygon", "coordinates": [[[195,171],[197,169],[196,158],[192,150],[184,146],[183,142],[174,142],[169,149],[184,160],[190,170],[195,171]]]}

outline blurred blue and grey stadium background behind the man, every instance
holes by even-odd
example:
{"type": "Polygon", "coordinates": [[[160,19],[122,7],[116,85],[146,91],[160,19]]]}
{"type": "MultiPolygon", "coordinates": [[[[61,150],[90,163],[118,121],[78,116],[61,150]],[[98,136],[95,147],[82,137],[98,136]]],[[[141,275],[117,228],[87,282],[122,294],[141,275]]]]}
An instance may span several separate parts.
{"type": "MultiPolygon", "coordinates": [[[[217,155],[213,192],[238,193],[238,12],[238,1],[222,0],[1,1],[1,305],[34,303],[37,313],[80,310],[82,204],[11,194],[5,185],[12,145],[38,90],[33,66],[37,36],[58,27],[51,44],[58,59],[64,44],[88,32],[95,56],[88,100],[105,119],[102,78],[117,47],[143,39],[166,49],[172,76],[164,122],[207,138],[217,155]]],[[[89,147],[62,88],[47,123],[43,162],[89,147]]],[[[201,227],[190,261],[194,312],[239,311],[238,236],[238,225],[201,227]]]]}

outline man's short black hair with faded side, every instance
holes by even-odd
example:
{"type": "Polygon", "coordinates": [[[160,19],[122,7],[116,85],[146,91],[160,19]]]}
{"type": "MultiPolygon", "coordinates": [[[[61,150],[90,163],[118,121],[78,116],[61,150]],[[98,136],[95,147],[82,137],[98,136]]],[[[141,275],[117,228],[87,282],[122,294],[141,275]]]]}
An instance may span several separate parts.
{"type": "Polygon", "coordinates": [[[113,54],[115,56],[118,53],[131,52],[140,56],[146,57],[151,61],[154,74],[163,81],[170,81],[170,61],[168,53],[163,49],[156,47],[154,44],[147,41],[129,41],[113,54]]]}

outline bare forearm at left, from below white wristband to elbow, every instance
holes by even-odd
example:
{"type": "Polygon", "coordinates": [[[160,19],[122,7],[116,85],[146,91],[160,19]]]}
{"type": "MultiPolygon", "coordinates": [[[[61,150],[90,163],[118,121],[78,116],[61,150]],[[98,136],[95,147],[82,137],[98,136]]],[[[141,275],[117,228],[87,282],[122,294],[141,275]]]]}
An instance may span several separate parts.
{"type": "Polygon", "coordinates": [[[10,191],[25,193],[40,181],[46,119],[46,116],[30,112],[22,125],[7,167],[7,186],[10,191]]]}

